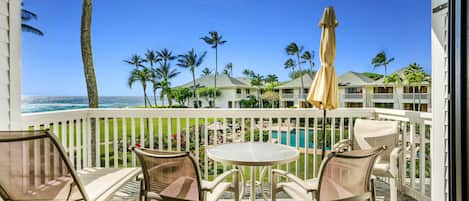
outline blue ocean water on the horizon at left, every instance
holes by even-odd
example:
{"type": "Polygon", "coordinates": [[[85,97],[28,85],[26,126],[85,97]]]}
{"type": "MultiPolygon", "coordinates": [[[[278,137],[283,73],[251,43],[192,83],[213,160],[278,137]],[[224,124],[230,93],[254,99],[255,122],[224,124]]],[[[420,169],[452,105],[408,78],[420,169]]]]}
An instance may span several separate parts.
{"type": "MultiPolygon", "coordinates": [[[[144,105],[140,96],[102,96],[99,97],[100,108],[126,108],[144,105]]],[[[22,113],[70,110],[88,107],[86,96],[23,96],[22,113]]]]}

